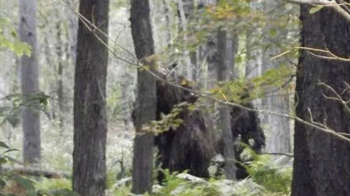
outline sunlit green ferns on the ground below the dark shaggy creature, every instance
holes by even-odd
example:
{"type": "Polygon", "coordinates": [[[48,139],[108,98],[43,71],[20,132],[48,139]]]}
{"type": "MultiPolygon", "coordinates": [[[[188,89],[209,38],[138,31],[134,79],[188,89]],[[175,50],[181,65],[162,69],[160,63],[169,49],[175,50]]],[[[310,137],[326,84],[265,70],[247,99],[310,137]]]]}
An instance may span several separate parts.
{"type": "MultiPolygon", "coordinates": [[[[251,153],[245,152],[245,153],[251,153]]],[[[165,182],[153,186],[152,194],[144,196],[289,196],[292,180],[291,166],[276,166],[269,156],[256,155],[247,170],[251,177],[245,180],[188,180],[178,178],[165,170],[165,182]]],[[[155,183],[157,183],[155,181],[155,183]]],[[[135,196],[130,193],[131,184],[109,190],[108,196],[135,196]]],[[[139,196],[139,195],[138,195],[139,196]]]]}

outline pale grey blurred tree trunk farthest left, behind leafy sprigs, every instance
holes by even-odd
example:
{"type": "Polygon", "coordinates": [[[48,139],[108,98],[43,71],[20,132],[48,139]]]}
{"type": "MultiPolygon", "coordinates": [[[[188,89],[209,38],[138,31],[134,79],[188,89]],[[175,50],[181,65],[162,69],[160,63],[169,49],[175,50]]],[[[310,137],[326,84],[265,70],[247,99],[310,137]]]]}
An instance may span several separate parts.
{"type": "MultiPolygon", "coordinates": [[[[21,58],[21,84],[23,102],[39,92],[39,67],[36,41],[36,0],[19,0],[19,36],[22,42],[32,47],[31,56],[21,58]]],[[[30,101],[23,107],[23,162],[40,161],[40,113],[39,101],[30,101]]]]}

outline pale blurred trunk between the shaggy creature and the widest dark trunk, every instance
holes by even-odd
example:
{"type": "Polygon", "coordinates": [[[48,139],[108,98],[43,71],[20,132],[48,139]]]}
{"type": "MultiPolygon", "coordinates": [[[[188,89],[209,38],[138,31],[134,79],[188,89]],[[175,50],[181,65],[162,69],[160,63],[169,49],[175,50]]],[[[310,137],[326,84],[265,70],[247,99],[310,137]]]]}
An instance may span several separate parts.
{"type": "MultiPolygon", "coordinates": [[[[273,25],[269,23],[269,21],[276,20],[273,17],[278,16],[279,13],[283,13],[286,9],[285,6],[281,6],[280,4],[283,2],[280,1],[266,1],[263,3],[263,10],[265,13],[269,13],[266,18],[266,25],[262,30],[265,36],[263,39],[264,43],[267,44],[271,42],[271,40],[276,40],[276,43],[285,40],[287,37],[287,33],[285,30],[278,31],[278,35],[275,37],[269,36],[269,32],[272,30],[273,25]],[[272,10],[272,11],[271,11],[272,10]]],[[[275,55],[281,53],[281,51],[274,44],[270,44],[266,50],[263,51],[262,54],[262,73],[269,70],[278,68],[282,61],[278,60],[270,60],[275,55]]],[[[279,113],[279,114],[289,114],[289,96],[283,90],[276,90],[276,88],[269,88],[267,91],[271,91],[271,93],[265,94],[266,98],[262,99],[262,105],[265,110],[279,113]]],[[[268,152],[284,152],[288,153],[291,150],[290,144],[290,125],[289,119],[272,115],[272,114],[264,114],[262,118],[262,124],[264,125],[264,132],[266,133],[266,151],[268,152]]]]}

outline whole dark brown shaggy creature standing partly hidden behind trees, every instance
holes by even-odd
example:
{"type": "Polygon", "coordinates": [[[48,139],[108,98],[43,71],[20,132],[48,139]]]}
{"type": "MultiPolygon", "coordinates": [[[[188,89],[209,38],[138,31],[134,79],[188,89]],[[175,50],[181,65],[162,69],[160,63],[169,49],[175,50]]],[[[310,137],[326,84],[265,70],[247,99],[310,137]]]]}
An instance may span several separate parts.
{"type": "MultiPolygon", "coordinates": [[[[163,74],[157,75],[166,79],[163,74]]],[[[191,89],[188,82],[184,82],[184,80],[183,77],[179,77],[176,82],[191,89]]],[[[176,104],[194,103],[197,99],[198,97],[191,92],[172,86],[167,82],[157,81],[157,120],[161,120],[161,114],[170,114],[176,104]]],[[[245,106],[253,108],[252,104],[245,106]]],[[[223,143],[214,141],[213,131],[208,130],[204,114],[200,110],[190,111],[184,107],[178,114],[178,118],[183,120],[179,127],[170,128],[155,137],[155,145],[158,148],[157,165],[161,165],[163,169],[167,168],[171,172],[188,170],[189,174],[194,176],[209,178],[210,161],[217,151],[223,152],[223,143]],[[219,146],[218,150],[215,149],[217,146],[219,146]]],[[[260,152],[265,145],[265,137],[256,112],[232,107],[231,127],[233,137],[240,136],[241,141],[251,145],[255,151],[260,152]]],[[[237,147],[235,150],[237,161],[243,162],[240,158],[242,148],[237,147]]],[[[237,179],[247,177],[242,165],[237,164],[237,168],[237,179]]],[[[162,175],[164,175],[162,172],[158,173],[159,182],[164,180],[162,175]]]]}

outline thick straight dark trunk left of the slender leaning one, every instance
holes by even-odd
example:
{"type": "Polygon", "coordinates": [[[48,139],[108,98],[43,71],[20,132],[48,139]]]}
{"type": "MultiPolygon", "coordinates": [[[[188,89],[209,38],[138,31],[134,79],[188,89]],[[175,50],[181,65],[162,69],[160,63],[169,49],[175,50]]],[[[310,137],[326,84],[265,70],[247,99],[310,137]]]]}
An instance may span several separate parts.
{"type": "MultiPolygon", "coordinates": [[[[80,1],[79,13],[106,34],[108,11],[109,0],[80,1]]],[[[106,188],[108,49],[96,36],[107,43],[103,33],[90,32],[79,21],[74,86],[73,190],[81,196],[104,196],[106,188]]]]}

